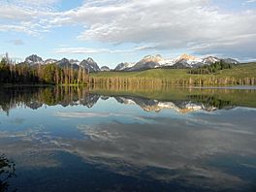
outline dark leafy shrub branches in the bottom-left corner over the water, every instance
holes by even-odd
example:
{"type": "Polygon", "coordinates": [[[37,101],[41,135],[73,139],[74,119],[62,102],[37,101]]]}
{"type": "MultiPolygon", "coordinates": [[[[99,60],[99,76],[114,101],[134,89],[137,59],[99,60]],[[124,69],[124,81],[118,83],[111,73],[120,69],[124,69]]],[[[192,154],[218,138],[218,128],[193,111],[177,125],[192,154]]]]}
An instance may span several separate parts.
{"type": "MultiPolygon", "coordinates": [[[[8,191],[10,183],[9,179],[16,176],[16,164],[6,158],[0,156],[0,192],[8,191]]],[[[15,190],[16,191],[16,190],[15,190]]]]}

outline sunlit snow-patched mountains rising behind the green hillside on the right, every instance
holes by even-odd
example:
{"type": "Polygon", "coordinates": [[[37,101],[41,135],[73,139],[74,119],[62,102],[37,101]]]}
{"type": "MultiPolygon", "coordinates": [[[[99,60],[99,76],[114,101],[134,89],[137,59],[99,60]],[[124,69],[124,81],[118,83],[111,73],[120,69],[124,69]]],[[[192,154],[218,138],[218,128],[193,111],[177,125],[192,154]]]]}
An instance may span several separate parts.
{"type": "Polygon", "coordinates": [[[231,58],[217,58],[213,56],[196,57],[189,54],[182,54],[175,59],[164,59],[161,55],[147,55],[141,61],[131,65],[129,63],[118,64],[114,71],[140,71],[152,68],[198,68],[204,65],[210,65],[215,62],[223,61],[229,64],[239,64],[240,62],[231,58]]]}

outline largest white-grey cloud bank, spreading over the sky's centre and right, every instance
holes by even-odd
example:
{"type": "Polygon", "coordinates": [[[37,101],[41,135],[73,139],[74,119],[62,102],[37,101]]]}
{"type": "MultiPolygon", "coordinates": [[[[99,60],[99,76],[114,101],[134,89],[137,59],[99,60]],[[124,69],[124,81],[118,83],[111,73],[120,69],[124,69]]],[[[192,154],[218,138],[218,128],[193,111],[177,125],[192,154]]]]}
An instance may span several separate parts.
{"type": "Polygon", "coordinates": [[[245,55],[255,49],[255,44],[248,45],[255,42],[255,11],[223,14],[205,0],[89,2],[56,16],[51,23],[80,23],[84,31],[79,40],[146,44],[159,51],[188,48],[200,54],[221,48],[231,55],[233,48],[242,47],[245,55]]]}

